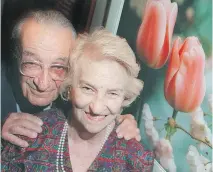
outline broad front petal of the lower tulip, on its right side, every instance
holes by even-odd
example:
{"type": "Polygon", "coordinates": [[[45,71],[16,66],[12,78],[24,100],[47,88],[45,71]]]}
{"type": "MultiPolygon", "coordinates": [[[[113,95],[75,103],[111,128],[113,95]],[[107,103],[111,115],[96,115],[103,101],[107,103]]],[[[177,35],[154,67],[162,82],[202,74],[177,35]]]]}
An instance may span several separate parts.
{"type": "Polygon", "coordinates": [[[180,57],[182,59],[180,69],[174,77],[174,83],[171,84],[174,88],[169,88],[178,93],[174,95],[173,100],[177,110],[192,111],[203,100],[204,61],[197,55],[196,49],[193,48],[180,57]]]}

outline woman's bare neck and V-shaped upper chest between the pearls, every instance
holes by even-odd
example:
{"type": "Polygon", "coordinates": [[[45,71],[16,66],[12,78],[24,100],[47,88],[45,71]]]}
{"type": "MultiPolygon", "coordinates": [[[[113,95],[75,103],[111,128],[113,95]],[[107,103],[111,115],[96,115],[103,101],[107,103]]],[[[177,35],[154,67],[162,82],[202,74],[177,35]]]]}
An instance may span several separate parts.
{"type": "Polygon", "coordinates": [[[115,121],[97,134],[90,133],[74,119],[68,119],[68,145],[73,171],[87,171],[102,150],[115,121]]]}

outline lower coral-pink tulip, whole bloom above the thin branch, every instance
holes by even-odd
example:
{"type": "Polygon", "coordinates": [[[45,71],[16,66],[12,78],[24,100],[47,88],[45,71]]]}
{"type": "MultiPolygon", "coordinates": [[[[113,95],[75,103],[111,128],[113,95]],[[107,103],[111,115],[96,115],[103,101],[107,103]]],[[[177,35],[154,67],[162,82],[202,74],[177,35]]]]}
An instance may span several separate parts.
{"type": "Polygon", "coordinates": [[[164,95],[168,103],[182,112],[194,111],[205,95],[205,54],[196,37],[188,37],[183,44],[174,42],[166,79],[164,95]]]}

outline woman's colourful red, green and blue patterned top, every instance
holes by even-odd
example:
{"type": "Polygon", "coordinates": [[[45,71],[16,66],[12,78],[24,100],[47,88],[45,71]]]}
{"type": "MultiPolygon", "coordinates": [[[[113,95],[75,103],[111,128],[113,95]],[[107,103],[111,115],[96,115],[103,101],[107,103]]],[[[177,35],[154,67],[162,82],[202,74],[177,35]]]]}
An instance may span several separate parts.
{"type": "MultiPolygon", "coordinates": [[[[2,172],[56,171],[59,140],[66,118],[57,109],[44,111],[37,116],[44,122],[43,131],[36,139],[24,138],[30,143],[29,147],[20,148],[4,143],[2,172]]],[[[64,148],[64,169],[72,172],[67,136],[64,148]]],[[[151,172],[153,160],[153,152],[146,151],[135,139],[118,139],[114,128],[88,172],[151,172]]]]}

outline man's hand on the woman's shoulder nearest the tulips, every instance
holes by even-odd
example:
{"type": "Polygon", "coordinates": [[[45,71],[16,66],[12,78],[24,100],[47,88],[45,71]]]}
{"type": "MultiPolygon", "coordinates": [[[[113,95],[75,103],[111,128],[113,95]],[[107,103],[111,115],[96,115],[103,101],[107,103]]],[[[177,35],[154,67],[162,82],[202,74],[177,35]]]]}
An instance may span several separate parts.
{"type": "Polygon", "coordinates": [[[116,120],[120,123],[116,130],[118,138],[141,140],[140,130],[137,128],[137,122],[133,115],[119,115],[116,120]]]}

